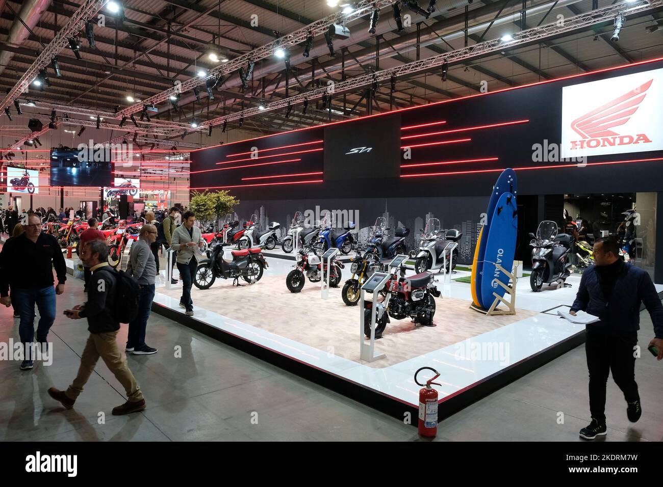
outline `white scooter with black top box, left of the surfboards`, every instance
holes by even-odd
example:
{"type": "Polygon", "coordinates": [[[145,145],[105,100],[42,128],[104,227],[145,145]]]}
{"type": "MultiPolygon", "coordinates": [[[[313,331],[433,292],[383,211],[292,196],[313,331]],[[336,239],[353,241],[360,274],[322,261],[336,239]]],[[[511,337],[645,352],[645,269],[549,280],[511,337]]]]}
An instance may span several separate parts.
{"type": "Polygon", "coordinates": [[[439,271],[445,266],[445,260],[446,272],[451,272],[458,262],[457,243],[462,236],[461,231],[457,229],[441,230],[439,219],[429,219],[419,253],[415,256],[414,272],[420,274],[428,270],[439,271]]]}

